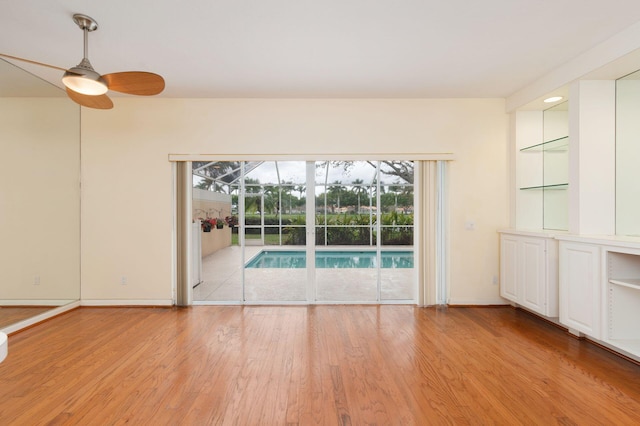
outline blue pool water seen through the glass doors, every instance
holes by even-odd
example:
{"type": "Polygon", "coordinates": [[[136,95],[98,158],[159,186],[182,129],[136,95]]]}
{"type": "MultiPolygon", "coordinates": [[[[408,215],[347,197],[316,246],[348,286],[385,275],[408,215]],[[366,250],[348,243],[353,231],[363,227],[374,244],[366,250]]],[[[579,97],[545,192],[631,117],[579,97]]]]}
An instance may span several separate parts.
{"type": "MultiPolygon", "coordinates": [[[[383,268],[413,268],[412,251],[383,251],[383,268]]],[[[375,251],[316,251],[316,268],[377,268],[375,251]]],[[[246,268],[306,268],[304,251],[264,250],[246,268]]]]}

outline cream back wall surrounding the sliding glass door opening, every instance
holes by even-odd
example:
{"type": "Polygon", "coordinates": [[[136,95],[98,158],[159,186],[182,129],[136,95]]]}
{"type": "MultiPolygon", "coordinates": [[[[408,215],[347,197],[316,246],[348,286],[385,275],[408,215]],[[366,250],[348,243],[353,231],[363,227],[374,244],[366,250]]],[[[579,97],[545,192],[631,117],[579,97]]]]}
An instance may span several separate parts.
{"type": "MultiPolygon", "coordinates": [[[[501,99],[117,98],[83,110],[84,303],[169,302],[168,154],[452,152],[451,303],[500,303],[508,225],[508,117],[501,99]],[[467,230],[465,223],[475,223],[467,230]],[[125,284],[122,284],[123,277],[125,284]]],[[[320,156],[321,157],[321,156],[320,156]]],[[[319,157],[319,158],[320,158],[319,157]]]]}

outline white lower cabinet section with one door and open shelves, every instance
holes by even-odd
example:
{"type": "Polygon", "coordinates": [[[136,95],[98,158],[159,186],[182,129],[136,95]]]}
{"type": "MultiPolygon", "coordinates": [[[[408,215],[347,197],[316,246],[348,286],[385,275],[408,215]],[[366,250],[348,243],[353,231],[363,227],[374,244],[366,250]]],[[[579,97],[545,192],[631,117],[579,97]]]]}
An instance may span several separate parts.
{"type": "Polygon", "coordinates": [[[640,239],[560,240],[560,323],[640,361],[640,239]]]}

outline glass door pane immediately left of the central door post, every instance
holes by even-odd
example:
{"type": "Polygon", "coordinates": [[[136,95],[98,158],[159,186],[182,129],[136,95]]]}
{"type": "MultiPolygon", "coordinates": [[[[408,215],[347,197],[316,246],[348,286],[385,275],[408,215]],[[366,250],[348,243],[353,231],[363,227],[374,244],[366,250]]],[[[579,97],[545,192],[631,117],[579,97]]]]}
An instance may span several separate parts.
{"type": "Polygon", "coordinates": [[[307,302],[305,176],[304,161],[264,161],[241,178],[244,302],[307,302]],[[251,233],[262,236],[259,245],[251,233]]]}

